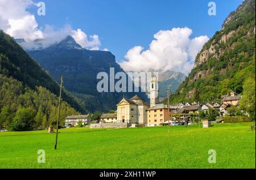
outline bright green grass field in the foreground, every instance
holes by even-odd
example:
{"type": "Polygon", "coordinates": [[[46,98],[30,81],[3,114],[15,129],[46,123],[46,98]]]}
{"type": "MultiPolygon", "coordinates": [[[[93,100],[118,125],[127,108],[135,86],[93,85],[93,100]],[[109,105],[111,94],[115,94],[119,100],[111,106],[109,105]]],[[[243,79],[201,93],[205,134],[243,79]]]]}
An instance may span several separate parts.
{"type": "Polygon", "coordinates": [[[0,168],[255,168],[250,123],[127,129],[0,132],[0,168]],[[46,163],[37,162],[38,150],[46,163]],[[216,150],[209,164],[208,150],[216,150]]]}

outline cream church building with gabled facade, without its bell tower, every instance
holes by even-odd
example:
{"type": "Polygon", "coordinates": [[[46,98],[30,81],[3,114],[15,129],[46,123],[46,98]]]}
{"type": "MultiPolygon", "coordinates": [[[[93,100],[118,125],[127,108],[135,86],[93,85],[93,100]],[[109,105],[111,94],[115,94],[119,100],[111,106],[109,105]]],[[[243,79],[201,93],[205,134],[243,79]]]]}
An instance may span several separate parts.
{"type": "Polygon", "coordinates": [[[147,108],[150,104],[135,95],[133,98],[123,98],[117,104],[117,123],[147,123],[147,108]]]}

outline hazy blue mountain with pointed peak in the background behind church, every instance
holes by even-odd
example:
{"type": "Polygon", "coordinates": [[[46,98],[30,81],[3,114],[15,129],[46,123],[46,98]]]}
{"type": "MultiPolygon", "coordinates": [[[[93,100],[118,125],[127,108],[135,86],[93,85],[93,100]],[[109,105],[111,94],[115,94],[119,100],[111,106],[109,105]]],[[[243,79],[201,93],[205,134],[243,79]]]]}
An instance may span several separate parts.
{"type": "Polygon", "coordinates": [[[71,91],[90,112],[109,111],[115,109],[122,97],[140,95],[147,101],[146,93],[98,93],[97,79],[99,72],[110,74],[110,68],[115,72],[124,72],[115,61],[115,56],[109,51],[91,51],[80,48],[71,36],[60,43],[42,50],[28,51],[44,69],[57,81],[64,76],[64,86],[71,91]]]}

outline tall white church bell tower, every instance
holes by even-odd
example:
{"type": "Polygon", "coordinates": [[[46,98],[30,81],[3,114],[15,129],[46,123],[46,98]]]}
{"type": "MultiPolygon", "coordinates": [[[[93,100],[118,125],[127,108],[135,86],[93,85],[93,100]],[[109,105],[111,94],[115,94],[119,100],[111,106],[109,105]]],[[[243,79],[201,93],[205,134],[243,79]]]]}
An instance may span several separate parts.
{"type": "Polygon", "coordinates": [[[153,75],[151,77],[150,84],[150,107],[155,106],[155,104],[159,103],[158,99],[158,78],[153,75]]]}

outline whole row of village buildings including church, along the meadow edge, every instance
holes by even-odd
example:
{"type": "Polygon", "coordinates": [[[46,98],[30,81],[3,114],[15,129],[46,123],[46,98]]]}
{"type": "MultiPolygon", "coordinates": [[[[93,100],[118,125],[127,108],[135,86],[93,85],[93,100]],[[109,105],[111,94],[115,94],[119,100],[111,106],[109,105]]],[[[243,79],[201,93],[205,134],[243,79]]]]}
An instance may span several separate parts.
{"type": "Polygon", "coordinates": [[[67,116],[65,126],[71,127],[90,124],[91,128],[116,127],[155,127],[160,125],[193,124],[199,120],[223,122],[225,115],[230,115],[228,108],[239,105],[241,95],[231,92],[222,95],[221,103],[188,103],[180,102],[169,106],[159,103],[158,79],[151,77],[150,103],[135,95],[132,98],[123,97],[113,113],[102,114],[100,119],[92,120],[88,115],[67,116]],[[209,115],[210,114],[210,115],[209,115]]]}

